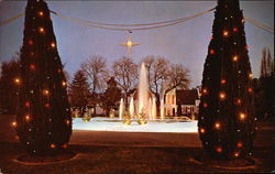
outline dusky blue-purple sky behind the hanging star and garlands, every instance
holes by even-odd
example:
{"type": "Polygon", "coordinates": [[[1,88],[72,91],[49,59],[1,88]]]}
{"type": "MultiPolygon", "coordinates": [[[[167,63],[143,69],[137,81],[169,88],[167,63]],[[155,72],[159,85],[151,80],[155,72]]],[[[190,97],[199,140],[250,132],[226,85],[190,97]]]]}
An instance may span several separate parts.
{"type": "MultiPolygon", "coordinates": [[[[106,23],[147,23],[178,19],[216,7],[216,1],[47,1],[51,10],[84,20],[106,23]]],[[[0,21],[24,12],[26,1],[1,1],[0,21]]],[[[242,1],[244,15],[274,28],[273,1],[242,1]]],[[[127,32],[107,31],[72,23],[52,15],[57,47],[65,69],[72,74],[92,55],[102,55],[108,65],[127,54],[118,44],[127,32]]],[[[19,51],[23,37],[24,18],[0,26],[0,62],[19,51]]],[[[161,55],[190,69],[191,86],[200,85],[213,12],[179,25],[133,32],[141,45],[133,48],[135,62],[146,55],[161,55]]],[[[262,48],[268,46],[274,57],[274,35],[245,23],[252,72],[258,76],[262,48]]]]}

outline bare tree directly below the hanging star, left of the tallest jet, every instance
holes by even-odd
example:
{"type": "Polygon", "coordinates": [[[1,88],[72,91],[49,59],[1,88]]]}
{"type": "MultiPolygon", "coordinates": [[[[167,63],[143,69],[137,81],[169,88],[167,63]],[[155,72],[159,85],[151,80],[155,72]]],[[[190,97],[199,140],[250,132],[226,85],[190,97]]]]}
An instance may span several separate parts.
{"type": "Polygon", "coordinates": [[[125,97],[125,105],[128,106],[128,95],[131,89],[136,85],[138,76],[138,65],[132,58],[123,56],[119,61],[114,62],[112,65],[114,78],[122,89],[125,97]]]}

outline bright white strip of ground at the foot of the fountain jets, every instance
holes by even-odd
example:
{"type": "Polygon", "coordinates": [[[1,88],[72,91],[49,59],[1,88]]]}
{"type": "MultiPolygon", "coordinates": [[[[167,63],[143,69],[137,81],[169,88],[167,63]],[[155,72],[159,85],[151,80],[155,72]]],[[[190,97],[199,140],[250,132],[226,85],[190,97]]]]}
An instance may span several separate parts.
{"type": "Polygon", "coordinates": [[[74,130],[122,131],[122,132],[198,132],[197,121],[154,120],[140,126],[132,120],[131,126],[123,124],[118,118],[92,118],[89,122],[80,118],[73,120],[74,130]]]}

